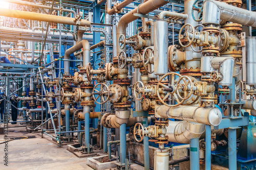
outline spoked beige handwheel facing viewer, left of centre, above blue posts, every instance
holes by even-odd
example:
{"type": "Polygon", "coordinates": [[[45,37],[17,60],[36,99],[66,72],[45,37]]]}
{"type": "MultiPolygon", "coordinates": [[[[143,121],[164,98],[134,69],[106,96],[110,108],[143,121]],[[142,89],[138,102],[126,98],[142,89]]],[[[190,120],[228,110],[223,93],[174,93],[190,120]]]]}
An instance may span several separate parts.
{"type": "Polygon", "coordinates": [[[92,95],[93,95],[93,99],[94,99],[94,101],[95,101],[96,103],[98,103],[98,104],[104,104],[104,103],[106,103],[106,102],[109,100],[109,98],[110,98],[110,90],[109,90],[109,87],[108,87],[106,84],[104,84],[104,83],[98,83],[98,84],[96,84],[96,86],[94,86],[92,95]],[[96,88],[98,88],[97,86],[100,86],[100,91],[96,89],[96,88]],[[105,88],[105,89],[104,89],[104,88],[105,88]],[[96,91],[96,92],[95,92],[95,91],[96,91]],[[95,98],[95,95],[98,95],[97,98],[95,98]],[[97,102],[97,100],[99,99],[100,96],[103,96],[103,97],[104,97],[105,95],[107,95],[107,96],[106,96],[106,99],[101,98],[102,102],[97,102]]]}

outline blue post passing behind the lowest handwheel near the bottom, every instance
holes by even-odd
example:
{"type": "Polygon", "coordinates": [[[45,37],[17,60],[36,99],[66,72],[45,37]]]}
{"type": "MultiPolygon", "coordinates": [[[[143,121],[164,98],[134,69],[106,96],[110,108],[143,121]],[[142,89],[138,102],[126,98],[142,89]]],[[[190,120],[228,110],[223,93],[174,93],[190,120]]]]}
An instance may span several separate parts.
{"type": "MultiPolygon", "coordinates": [[[[143,127],[147,127],[147,117],[143,117],[143,127]]],[[[144,146],[144,169],[150,170],[150,149],[148,147],[148,136],[144,136],[143,139],[143,146],[144,146]]]]}

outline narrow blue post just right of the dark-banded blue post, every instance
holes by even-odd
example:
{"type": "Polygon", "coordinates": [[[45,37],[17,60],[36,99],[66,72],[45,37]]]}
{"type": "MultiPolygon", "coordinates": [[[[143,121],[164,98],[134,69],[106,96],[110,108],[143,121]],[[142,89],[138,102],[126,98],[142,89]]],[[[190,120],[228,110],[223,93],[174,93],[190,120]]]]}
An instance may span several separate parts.
{"type": "Polygon", "coordinates": [[[205,126],[205,143],[206,143],[206,149],[205,149],[205,169],[210,169],[211,165],[211,127],[209,125],[205,126]]]}

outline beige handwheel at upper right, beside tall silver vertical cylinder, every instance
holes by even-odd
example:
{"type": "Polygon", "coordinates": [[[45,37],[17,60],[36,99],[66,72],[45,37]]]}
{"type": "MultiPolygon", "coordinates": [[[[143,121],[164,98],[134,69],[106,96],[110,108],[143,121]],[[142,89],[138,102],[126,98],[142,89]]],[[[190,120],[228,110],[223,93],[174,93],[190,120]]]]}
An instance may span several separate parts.
{"type": "Polygon", "coordinates": [[[189,45],[191,45],[194,42],[195,35],[196,35],[195,28],[192,25],[190,25],[189,23],[186,23],[184,26],[181,27],[180,32],[179,32],[179,43],[180,43],[180,45],[183,46],[183,47],[188,47],[189,45]],[[185,27],[187,27],[187,30],[185,31],[185,33],[183,35],[181,35],[182,30],[185,27]],[[192,30],[191,34],[193,34],[193,37],[191,39],[189,38],[189,34],[190,34],[189,30],[192,30]],[[187,45],[183,45],[182,42],[181,42],[181,39],[184,39],[184,38],[188,40],[187,45]]]}

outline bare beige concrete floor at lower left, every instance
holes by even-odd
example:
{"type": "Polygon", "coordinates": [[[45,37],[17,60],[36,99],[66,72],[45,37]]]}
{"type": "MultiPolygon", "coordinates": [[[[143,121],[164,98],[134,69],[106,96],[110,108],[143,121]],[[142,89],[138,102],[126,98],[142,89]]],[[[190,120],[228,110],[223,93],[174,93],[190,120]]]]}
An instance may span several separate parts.
{"type": "MultiPolygon", "coordinates": [[[[3,127],[4,125],[0,125],[3,127]]],[[[58,148],[57,144],[46,135],[28,133],[22,125],[9,123],[8,138],[36,136],[32,139],[19,139],[8,142],[8,166],[4,165],[5,144],[0,144],[0,169],[92,169],[87,165],[87,158],[78,158],[67,150],[66,145],[58,148]]],[[[0,135],[0,143],[4,135],[0,135]]]]}

